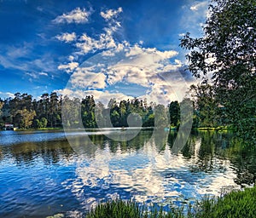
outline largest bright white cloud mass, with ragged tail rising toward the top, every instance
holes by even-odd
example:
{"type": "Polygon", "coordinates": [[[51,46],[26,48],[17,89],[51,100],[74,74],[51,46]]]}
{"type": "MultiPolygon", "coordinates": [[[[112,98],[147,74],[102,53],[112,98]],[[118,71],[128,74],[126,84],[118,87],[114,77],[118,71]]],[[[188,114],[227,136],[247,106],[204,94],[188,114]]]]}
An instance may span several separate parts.
{"type": "MultiPolygon", "coordinates": [[[[73,72],[66,89],[63,89],[65,93],[82,97],[94,95],[96,101],[108,103],[113,96],[126,98],[129,95],[127,89],[119,86],[119,83],[125,83],[141,89],[137,96],[139,98],[164,105],[170,103],[170,100],[182,100],[180,96],[185,95],[188,87],[184,84],[183,74],[179,72],[183,63],[177,59],[171,61],[177,56],[177,51],[144,48],[143,42],[131,45],[127,41],[116,40],[114,32],[121,26],[117,21],[121,12],[121,8],[101,12],[108,27],[103,28],[103,32],[97,36],[84,33],[76,37],[74,45],[78,51],[68,57],[70,63],[58,66],[60,70],[73,72]],[[80,66],[74,62],[74,56],[90,53],[97,54],[80,66]],[[181,94],[177,96],[176,92],[181,94]]],[[[63,40],[65,38],[62,35],[59,37],[63,40]]]]}

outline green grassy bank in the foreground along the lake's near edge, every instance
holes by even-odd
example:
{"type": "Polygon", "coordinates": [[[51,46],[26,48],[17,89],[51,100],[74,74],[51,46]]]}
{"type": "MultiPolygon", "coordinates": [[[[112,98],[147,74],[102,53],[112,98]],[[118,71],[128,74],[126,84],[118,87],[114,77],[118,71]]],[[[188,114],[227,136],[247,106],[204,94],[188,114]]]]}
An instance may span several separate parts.
{"type": "Polygon", "coordinates": [[[244,191],[233,191],[219,198],[204,198],[195,205],[180,208],[170,206],[168,212],[153,206],[151,209],[132,201],[114,200],[99,204],[87,218],[183,218],[183,217],[232,217],[253,218],[256,215],[256,186],[244,191]],[[185,212],[186,211],[186,212],[185,212]]]}

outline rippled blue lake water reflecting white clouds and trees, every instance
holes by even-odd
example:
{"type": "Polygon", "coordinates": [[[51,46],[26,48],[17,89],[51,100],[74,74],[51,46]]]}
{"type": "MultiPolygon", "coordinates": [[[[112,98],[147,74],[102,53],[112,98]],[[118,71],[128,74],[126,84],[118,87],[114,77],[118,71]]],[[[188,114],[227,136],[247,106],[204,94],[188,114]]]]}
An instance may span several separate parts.
{"type": "Polygon", "coordinates": [[[175,132],[143,129],[130,141],[113,134],[125,130],[0,131],[0,217],[82,217],[113,198],[193,204],[255,181],[256,152],[230,133],[191,134],[177,153],[175,132]]]}

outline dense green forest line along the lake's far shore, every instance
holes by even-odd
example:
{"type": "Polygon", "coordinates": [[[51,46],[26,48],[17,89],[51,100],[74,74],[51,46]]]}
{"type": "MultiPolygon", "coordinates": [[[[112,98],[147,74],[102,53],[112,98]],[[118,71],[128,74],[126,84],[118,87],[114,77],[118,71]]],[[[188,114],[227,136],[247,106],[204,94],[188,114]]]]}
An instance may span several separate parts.
{"type": "MultiPolygon", "coordinates": [[[[194,106],[193,127],[218,127],[231,124],[225,119],[225,108],[219,106],[212,95],[212,87],[209,85],[191,86],[191,100],[194,106]]],[[[68,96],[43,94],[39,100],[33,99],[32,95],[16,93],[14,98],[0,99],[0,125],[13,123],[19,129],[43,129],[61,128],[61,111],[70,112],[67,126],[79,126],[82,120],[84,128],[96,128],[97,124],[108,126],[110,118],[113,127],[127,127],[128,117],[136,113],[142,119],[143,127],[162,126],[178,127],[180,124],[180,106],[185,103],[172,101],[168,106],[156,105],[147,102],[147,99],[134,98],[131,100],[110,99],[108,106],[100,101],[96,103],[94,96],[87,95],[84,99],[69,98],[68,96]],[[61,107],[62,106],[62,107],[61,107]],[[77,110],[80,106],[80,111],[77,110]],[[79,112],[81,112],[79,116],[79,112]],[[160,116],[156,116],[158,113],[160,116]]],[[[191,104],[192,105],[192,104],[191,104]]]]}

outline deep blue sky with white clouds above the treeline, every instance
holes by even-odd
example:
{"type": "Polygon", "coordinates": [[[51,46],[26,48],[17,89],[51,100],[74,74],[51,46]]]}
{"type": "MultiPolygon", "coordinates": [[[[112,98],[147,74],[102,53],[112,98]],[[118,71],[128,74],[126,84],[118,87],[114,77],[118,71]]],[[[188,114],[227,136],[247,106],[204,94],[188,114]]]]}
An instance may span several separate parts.
{"type": "MultiPolygon", "coordinates": [[[[0,1],[0,98],[94,95],[106,103],[179,100],[185,32],[201,37],[208,1],[0,1]]],[[[195,82],[195,81],[194,81],[195,82]]]]}

